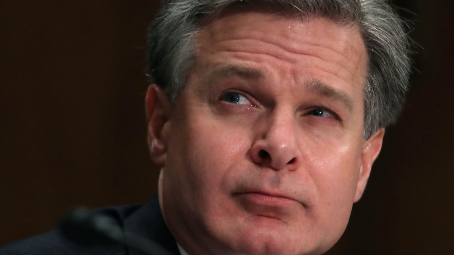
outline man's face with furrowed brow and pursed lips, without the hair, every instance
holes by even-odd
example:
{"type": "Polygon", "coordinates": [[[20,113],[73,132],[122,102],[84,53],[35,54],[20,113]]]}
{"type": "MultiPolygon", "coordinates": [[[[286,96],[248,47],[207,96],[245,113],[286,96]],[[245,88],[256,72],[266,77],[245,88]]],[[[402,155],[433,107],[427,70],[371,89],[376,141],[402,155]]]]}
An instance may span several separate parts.
{"type": "Polygon", "coordinates": [[[358,28],[226,10],[201,25],[196,45],[178,101],[157,103],[163,124],[150,123],[169,229],[190,254],[326,251],[383,135],[363,141],[358,28]]]}

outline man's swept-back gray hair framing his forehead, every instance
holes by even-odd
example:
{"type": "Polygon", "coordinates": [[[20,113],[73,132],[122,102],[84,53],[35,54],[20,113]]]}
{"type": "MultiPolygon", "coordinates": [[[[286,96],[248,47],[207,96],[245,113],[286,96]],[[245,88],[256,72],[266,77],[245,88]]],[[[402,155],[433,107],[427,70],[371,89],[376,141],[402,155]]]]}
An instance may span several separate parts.
{"type": "Polygon", "coordinates": [[[152,82],[172,101],[194,61],[197,24],[240,2],[357,25],[369,54],[363,87],[364,139],[397,120],[408,90],[411,61],[404,22],[386,0],[164,0],[148,32],[147,60],[152,82]]]}

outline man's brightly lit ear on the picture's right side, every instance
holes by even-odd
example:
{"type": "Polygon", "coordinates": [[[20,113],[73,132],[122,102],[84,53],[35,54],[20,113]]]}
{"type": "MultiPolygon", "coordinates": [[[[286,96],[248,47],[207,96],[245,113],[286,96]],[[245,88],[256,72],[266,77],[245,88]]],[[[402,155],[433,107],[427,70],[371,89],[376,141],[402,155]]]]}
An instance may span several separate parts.
{"type": "Polygon", "coordinates": [[[372,169],[372,164],[380,153],[381,145],[383,144],[383,136],[384,129],[380,129],[363,144],[361,168],[354,199],[355,203],[360,200],[361,196],[363,196],[364,189],[366,188],[367,180],[369,179],[370,171],[372,169]]]}

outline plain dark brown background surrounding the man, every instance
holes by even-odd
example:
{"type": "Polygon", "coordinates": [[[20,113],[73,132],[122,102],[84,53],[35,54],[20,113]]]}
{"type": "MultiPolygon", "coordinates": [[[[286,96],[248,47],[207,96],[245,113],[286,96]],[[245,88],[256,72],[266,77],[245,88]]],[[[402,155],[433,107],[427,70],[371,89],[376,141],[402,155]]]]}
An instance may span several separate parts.
{"type": "MultiPolygon", "coordinates": [[[[0,245],[67,210],[144,203],[146,28],[158,1],[0,2],[0,245]]],[[[415,72],[329,254],[454,254],[453,1],[393,1],[415,72]]]]}

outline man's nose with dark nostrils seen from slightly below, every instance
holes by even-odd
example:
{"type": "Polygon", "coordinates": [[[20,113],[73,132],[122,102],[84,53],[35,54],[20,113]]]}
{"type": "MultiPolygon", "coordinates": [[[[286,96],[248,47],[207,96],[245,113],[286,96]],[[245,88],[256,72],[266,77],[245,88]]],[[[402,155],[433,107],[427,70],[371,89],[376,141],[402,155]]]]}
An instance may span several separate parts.
{"type": "Polygon", "coordinates": [[[295,171],[301,164],[294,114],[268,116],[256,130],[258,139],[250,150],[254,163],[273,170],[295,171]]]}

